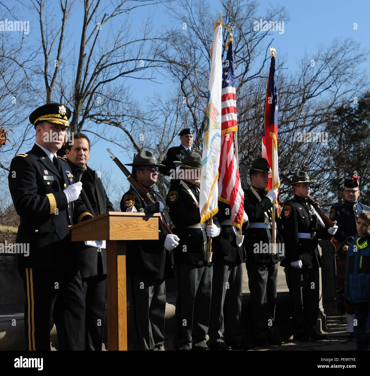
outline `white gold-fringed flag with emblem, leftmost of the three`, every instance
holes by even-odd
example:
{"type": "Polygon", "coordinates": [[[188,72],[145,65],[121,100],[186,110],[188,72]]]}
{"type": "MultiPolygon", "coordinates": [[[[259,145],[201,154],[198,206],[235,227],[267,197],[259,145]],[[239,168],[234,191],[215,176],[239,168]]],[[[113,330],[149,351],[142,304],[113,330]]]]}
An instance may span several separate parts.
{"type": "MultiPolygon", "coordinates": [[[[220,20],[221,21],[221,20],[220,20]]],[[[203,136],[202,171],[199,189],[201,224],[218,211],[218,167],[221,139],[222,24],[215,24],[211,71],[208,83],[206,126],[203,136]]]]}

